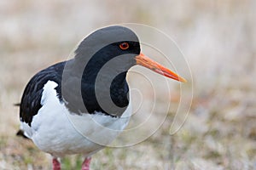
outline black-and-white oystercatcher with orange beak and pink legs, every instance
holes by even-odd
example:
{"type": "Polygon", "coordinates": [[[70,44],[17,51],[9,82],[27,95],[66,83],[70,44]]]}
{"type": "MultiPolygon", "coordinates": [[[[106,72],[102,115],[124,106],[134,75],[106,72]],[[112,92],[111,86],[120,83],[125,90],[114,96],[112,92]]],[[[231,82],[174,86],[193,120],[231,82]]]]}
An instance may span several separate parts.
{"type": "Polygon", "coordinates": [[[131,116],[131,94],[126,77],[142,65],[179,82],[183,77],[141,52],[137,34],[125,26],[107,26],[90,33],[71,59],[38,71],[26,84],[20,101],[20,130],[52,156],[53,170],[61,157],[91,156],[121,133],[131,116]]]}

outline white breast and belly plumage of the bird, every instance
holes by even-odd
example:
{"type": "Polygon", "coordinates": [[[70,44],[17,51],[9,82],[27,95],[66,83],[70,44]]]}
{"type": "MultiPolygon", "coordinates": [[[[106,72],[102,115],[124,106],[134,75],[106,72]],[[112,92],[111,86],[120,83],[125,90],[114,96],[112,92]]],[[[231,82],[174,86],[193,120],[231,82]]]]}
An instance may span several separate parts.
{"type": "Polygon", "coordinates": [[[131,105],[119,118],[101,112],[81,116],[70,114],[58,99],[55,87],[57,83],[53,81],[44,85],[43,106],[33,116],[32,126],[21,122],[21,129],[40,150],[58,157],[67,154],[89,156],[111,143],[129,122],[131,105]]]}

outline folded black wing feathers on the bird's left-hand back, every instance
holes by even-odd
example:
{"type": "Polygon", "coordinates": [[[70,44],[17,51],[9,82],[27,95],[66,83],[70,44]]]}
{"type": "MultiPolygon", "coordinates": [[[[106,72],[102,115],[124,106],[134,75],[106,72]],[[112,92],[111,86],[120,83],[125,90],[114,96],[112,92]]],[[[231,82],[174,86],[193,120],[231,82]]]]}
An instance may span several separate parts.
{"type": "Polygon", "coordinates": [[[28,123],[31,126],[32,117],[38,114],[38,110],[42,107],[41,98],[43,94],[44,84],[49,80],[58,84],[55,88],[59,99],[61,99],[61,77],[66,62],[61,62],[43,71],[39,71],[27,83],[20,102],[20,121],[28,123]]]}

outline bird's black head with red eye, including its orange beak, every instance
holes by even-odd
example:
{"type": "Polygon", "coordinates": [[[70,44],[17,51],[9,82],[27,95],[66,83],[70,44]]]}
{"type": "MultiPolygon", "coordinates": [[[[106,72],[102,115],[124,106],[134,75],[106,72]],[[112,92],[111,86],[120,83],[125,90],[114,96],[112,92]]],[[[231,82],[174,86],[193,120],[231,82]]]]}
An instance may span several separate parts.
{"type": "Polygon", "coordinates": [[[122,71],[128,71],[133,65],[142,65],[165,77],[186,82],[183,77],[144,55],[136,33],[124,26],[108,26],[92,32],[79,44],[75,53],[77,56],[91,56],[90,61],[95,60],[91,66],[102,68],[111,59],[116,59],[118,62],[113,62],[111,67],[119,67],[122,71]]]}

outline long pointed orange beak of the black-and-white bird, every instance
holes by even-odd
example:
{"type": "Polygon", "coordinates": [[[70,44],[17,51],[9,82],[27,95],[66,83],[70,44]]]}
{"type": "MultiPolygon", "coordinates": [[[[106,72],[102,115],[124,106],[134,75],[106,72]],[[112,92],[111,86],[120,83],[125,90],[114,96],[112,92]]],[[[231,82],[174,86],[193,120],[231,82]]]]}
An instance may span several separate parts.
{"type": "Polygon", "coordinates": [[[159,63],[155,62],[153,59],[149,59],[146,55],[142,53],[137,55],[135,59],[137,65],[143,65],[144,67],[147,67],[148,69],[155,71],[160,75],[172,78],[179,82],[187,82],[183,77],[179,77],[175,72],[170,71],[163,65],[160,65],[159,63]]]}

